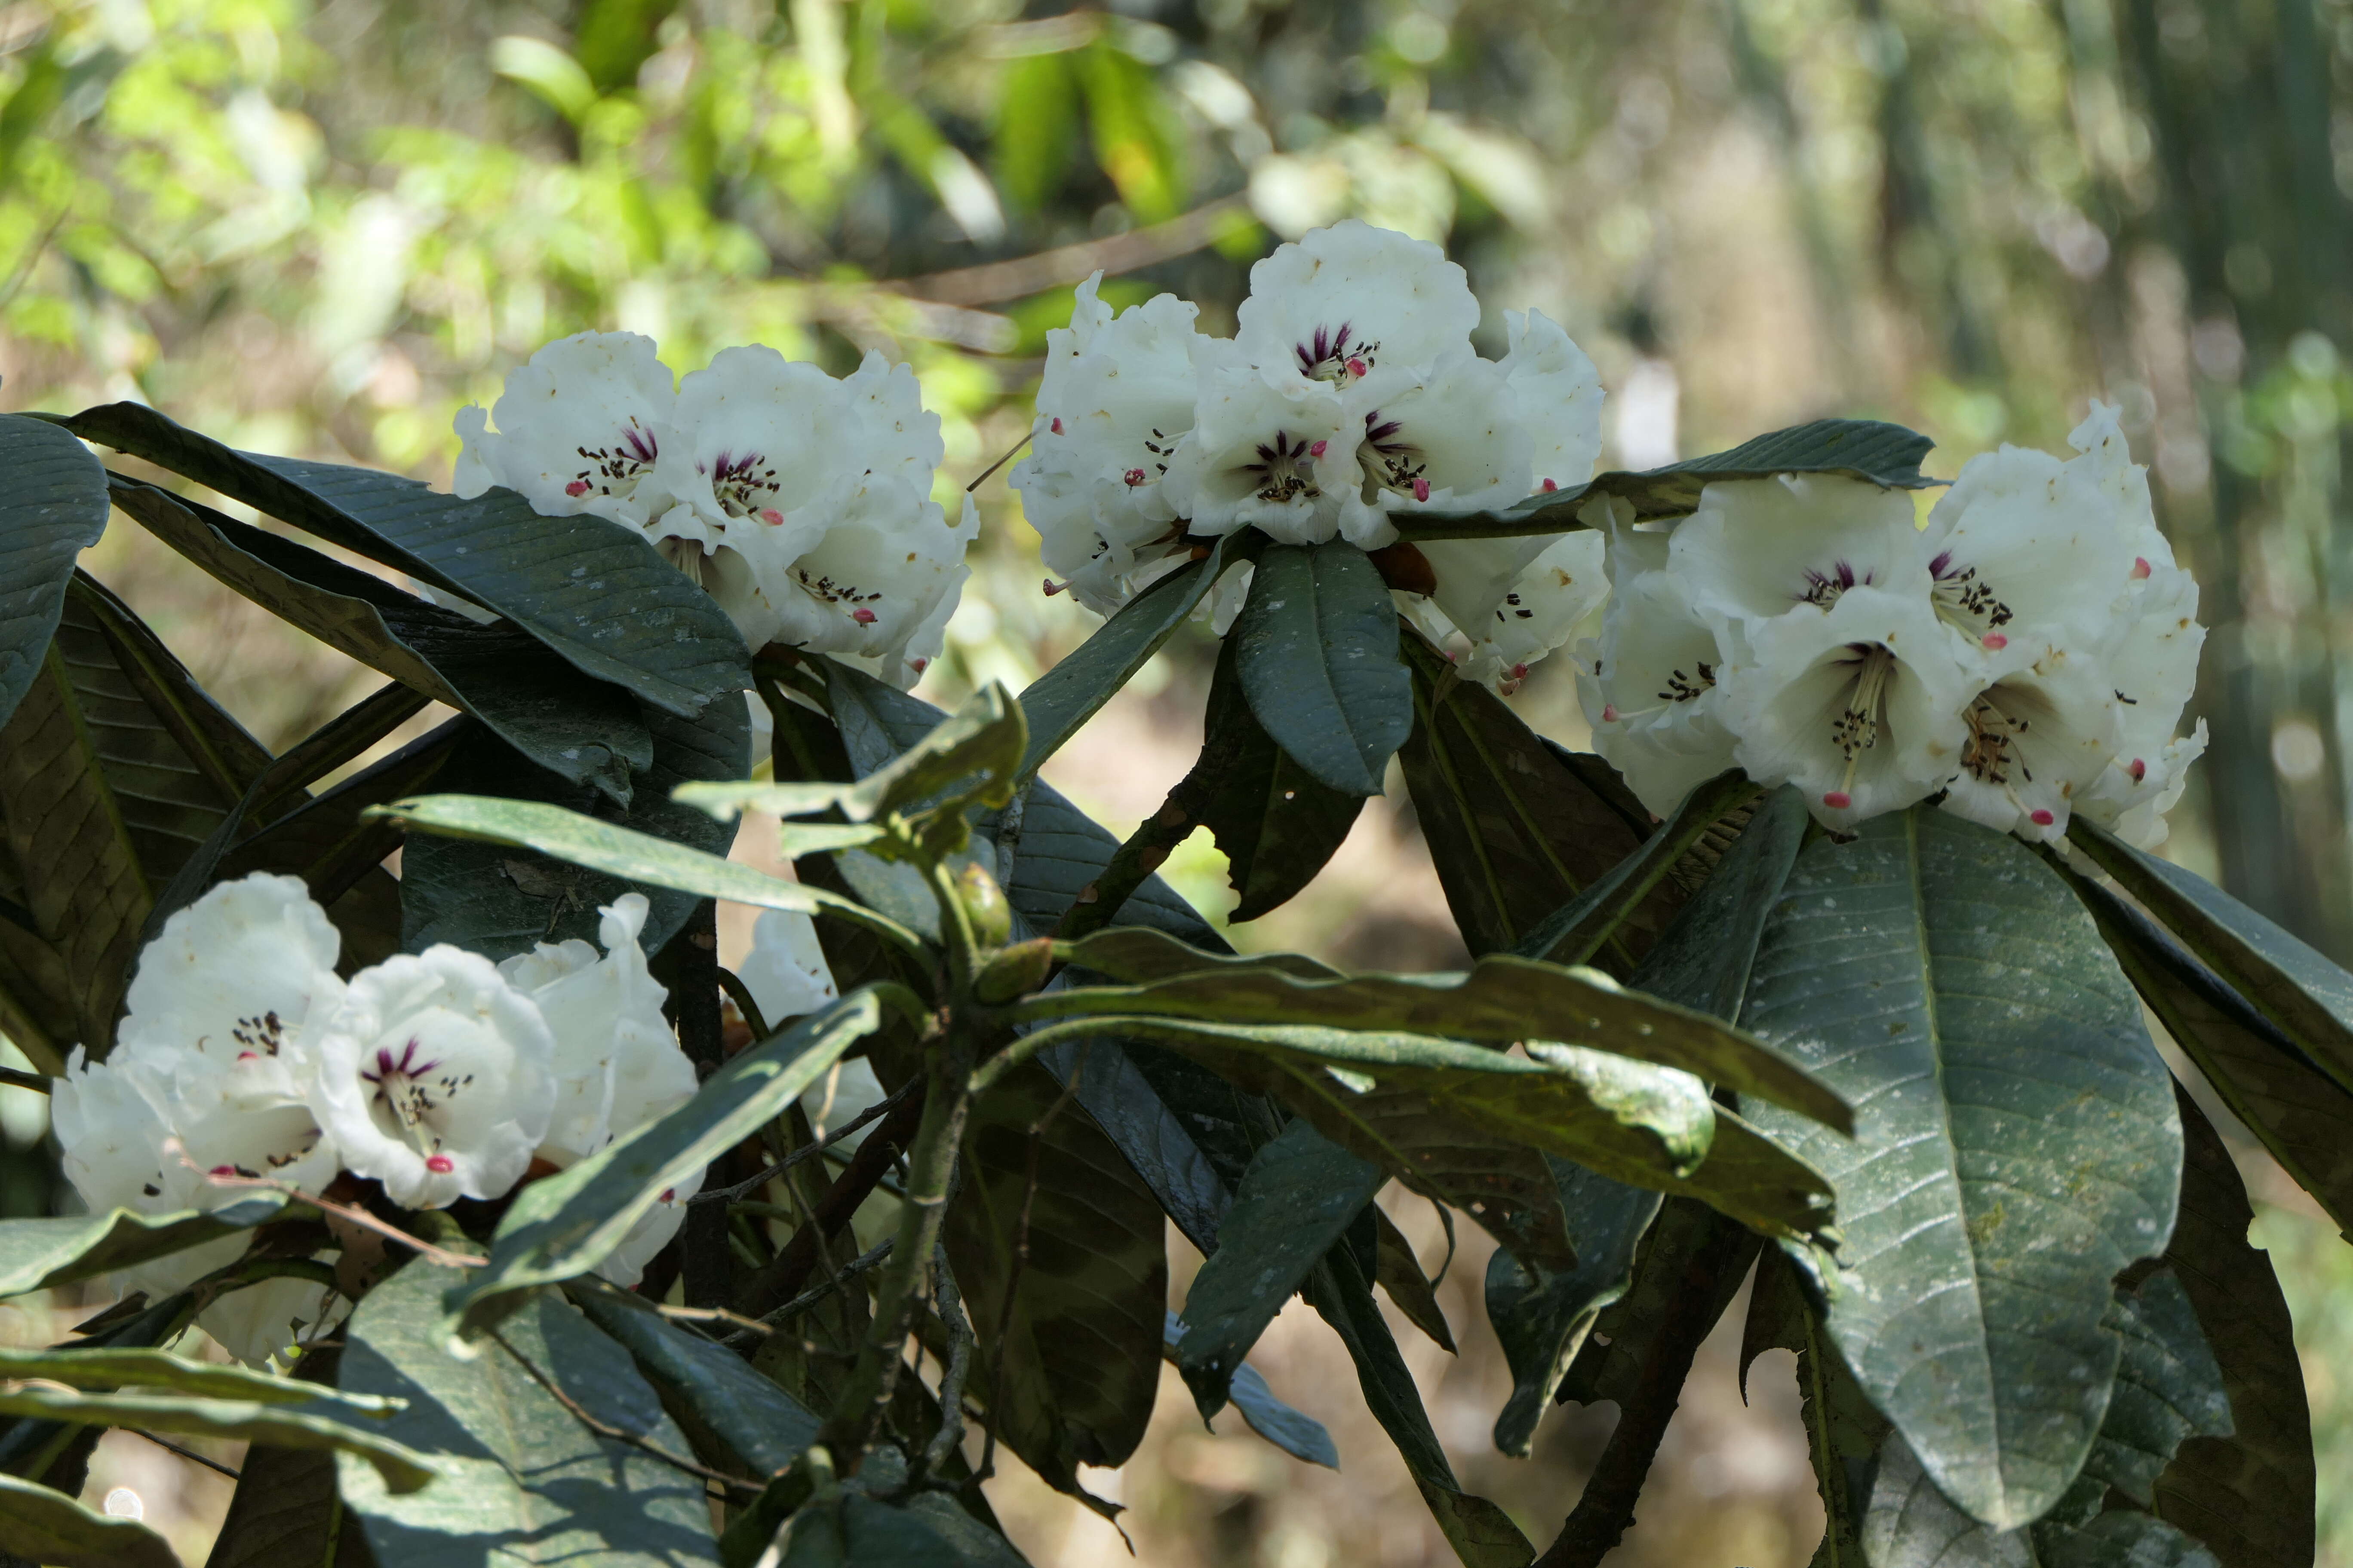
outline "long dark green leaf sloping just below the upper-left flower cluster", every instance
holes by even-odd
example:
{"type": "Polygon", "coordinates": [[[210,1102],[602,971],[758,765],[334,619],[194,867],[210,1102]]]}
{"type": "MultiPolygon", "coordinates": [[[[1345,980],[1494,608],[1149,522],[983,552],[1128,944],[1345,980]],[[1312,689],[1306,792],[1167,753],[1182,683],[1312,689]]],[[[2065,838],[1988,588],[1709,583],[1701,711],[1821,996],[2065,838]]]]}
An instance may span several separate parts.
{"type": "Polygon", "coordinates": [[[541,517],[508,489],[459,501],[372,468],[231,451],[129,402],[85,409],[68,428],[494,609],[664,712],[689,717],[751,686],[734,623],[635,529],[541,517]]]}

